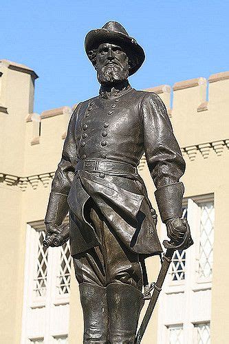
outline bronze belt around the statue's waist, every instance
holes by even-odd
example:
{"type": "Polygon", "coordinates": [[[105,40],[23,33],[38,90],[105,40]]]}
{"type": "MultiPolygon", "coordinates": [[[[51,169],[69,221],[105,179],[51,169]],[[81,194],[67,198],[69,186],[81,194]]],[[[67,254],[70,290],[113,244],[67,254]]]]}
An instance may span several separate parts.
{"type": "Polygon", "coordinates": [[[79,160],[76,164],[76,172],[84,170],[88,172],[125,172],[136,173],[137,168],[126,162],[118,162],[115,160],[79,160]]]}

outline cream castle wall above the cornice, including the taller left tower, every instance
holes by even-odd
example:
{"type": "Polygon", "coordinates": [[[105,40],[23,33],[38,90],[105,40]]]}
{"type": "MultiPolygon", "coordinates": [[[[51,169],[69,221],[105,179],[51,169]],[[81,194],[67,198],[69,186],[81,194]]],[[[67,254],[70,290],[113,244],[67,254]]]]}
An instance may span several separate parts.
{"type": "MultiPolygon", "coordinates": [[[[7,173],[32,176],[30,180],[25,177],[25,180],[17,179],[16,182],[12,177],[12,185],[36,185],[37,180],[41,180],[34,176],[56,170],[67,124],[77,105],[34,113],[36,77],[36,73],[25,65],[0,60],[1,140],[7,142],[1,153],[8,157],[8,161],[15,162],[13,165],[7,160],[4,162],[2,171],[6,175],[2,178],[8,182],[7,173]],[[21,103],[17,101],[19,98],[21,103]]],[[[182,80],[173,87],[159,85],[145,91],[155,92],[162,98],[185,159],[193,161],[198,156],[218,158],[228,151],[229,72],[212,74],[208,79],[182,80]]]]}

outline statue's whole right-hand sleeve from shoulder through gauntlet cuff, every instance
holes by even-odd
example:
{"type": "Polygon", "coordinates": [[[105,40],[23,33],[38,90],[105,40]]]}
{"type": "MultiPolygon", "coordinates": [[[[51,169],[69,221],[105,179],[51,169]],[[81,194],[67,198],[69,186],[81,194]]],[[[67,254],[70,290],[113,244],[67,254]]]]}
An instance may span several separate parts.
{"type": "Polygon", "coordinates": [[[144,151],[157,188],[155,197],[162,221],[182,216],[184,186],[179,178],[185,162],[173,133],[166,107],[157,94],[146,94],[141,104],[144,151]]]}

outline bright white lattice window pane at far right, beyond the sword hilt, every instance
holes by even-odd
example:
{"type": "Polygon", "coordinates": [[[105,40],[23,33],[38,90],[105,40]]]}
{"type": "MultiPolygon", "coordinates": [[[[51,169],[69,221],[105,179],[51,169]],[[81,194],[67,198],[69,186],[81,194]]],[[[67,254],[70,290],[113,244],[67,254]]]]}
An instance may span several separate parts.
{"type": "Polygon", "coordinates": [[[213,202],[201,204],[199,278],[212,275],[215,209],[213,202]]]}

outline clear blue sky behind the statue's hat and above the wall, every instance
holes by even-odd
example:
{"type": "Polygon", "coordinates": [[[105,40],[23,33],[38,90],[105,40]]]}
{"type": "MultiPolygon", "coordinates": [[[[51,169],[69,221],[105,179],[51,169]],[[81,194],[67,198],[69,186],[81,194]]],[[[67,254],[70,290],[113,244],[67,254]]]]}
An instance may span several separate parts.
{"type": "Polygon", "coordinates": [[[72,106],[98,94],[85,34],[119,21],[146,53],[131,76],[136,89],[229,69],[229,1],[226,0],[36,0],[4,1],[1,56],[32,67],[34,111],[72,106]]]}

